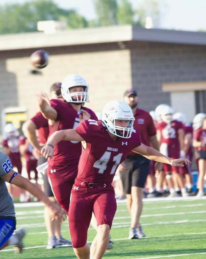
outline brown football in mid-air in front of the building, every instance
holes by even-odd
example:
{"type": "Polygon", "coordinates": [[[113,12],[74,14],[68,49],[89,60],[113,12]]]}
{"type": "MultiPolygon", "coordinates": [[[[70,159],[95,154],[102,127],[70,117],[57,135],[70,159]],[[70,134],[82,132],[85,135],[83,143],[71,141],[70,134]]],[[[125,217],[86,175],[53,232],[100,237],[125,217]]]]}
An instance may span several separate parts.
{"type": "Polygon", "coordinates": [[[31,62],[36,68],[44,68],[48,64],[49,53],[45,50],[37,50],[31,55],[31,62]]]}

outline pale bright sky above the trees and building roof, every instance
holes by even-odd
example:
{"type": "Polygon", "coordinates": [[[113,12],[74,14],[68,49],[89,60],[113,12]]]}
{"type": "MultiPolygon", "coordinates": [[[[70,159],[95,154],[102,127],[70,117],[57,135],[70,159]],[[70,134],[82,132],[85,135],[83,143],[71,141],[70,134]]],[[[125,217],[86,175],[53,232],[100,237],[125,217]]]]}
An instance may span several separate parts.
{"type": "MultiPolygon", "coordinates": [[[[136,9],[143,0],[129,0],[136,9]]],[[[24,3],[29,0],[0,0],[0,4],[24,3]]],[[[86,19],[95,18],[92,0],[53,0],[61,8],[75,9],[86,19]]],[[[160,28],[174,30],[205,30],[206,31],[206,1],[205,0],[159,0],[160,28]]]]}

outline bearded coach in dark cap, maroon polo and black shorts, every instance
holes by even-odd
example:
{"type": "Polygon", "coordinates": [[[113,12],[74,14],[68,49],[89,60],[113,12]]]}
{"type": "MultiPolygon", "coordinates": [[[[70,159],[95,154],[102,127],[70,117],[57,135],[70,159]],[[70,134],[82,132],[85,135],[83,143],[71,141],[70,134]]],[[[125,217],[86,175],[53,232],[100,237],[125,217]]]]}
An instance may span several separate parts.
{"type": "MultiPolygon", "coordinates": [[[[135,89],[124,92],[124,101],[131,107],[135,117],[134,129],[141,136],[141,142],[147,146],[159,150],[156,138],[156,129],[149,112],[138,108],[139,97],[135,89]]],[[[131,226],[129,229],[129,239],[145,237],[139,218],[142,213],[143,189],[149,173],[150,160],[130,152],[125,161],[119,165],[118,169],[122,180],[122,185],[127,198],[127,208],[131,215],[131,226]]]]}

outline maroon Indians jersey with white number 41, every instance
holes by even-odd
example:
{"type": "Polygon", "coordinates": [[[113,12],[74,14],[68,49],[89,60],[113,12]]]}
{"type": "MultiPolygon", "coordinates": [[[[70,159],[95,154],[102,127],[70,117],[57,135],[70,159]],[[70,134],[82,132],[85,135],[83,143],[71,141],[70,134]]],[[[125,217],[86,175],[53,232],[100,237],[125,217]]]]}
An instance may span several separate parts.
{"type": "Polygon", "coordinates": [[[82,182],[111,184],[118,165],[141,145],[136,131],[130,138],[113,140],[101,121],[85,120],[75,130],[87,142],[86,149],[82,147],[77,174],[82,182]]]}

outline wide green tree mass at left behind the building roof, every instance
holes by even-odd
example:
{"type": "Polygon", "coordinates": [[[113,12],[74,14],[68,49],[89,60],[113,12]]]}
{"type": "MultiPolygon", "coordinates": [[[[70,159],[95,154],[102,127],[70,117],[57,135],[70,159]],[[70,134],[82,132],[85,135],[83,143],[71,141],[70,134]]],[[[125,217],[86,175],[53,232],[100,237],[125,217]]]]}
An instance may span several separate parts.
{"type": "Polygon", "coordinates": [[[58,7],[52,0],[3,5],[0,8],[0,34],[37,31],[37,22],[67,20],[69,28],[87,27],[86,19],[74,10],[58,7]]]}

